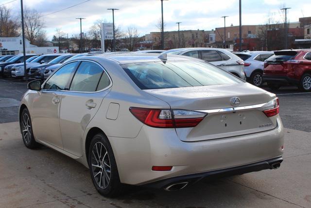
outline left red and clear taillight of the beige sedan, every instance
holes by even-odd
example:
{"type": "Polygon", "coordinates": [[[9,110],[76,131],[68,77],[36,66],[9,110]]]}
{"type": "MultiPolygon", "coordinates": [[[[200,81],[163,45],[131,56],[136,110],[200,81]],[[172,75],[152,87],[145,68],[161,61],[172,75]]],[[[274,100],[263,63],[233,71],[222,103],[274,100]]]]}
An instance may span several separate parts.
{"type": "Polygon", "coordinates": [[[142,123],[155,128],[188,128],[197,126],[207,115],[188,110],[131,107],[130,112],[142,123]]]}

